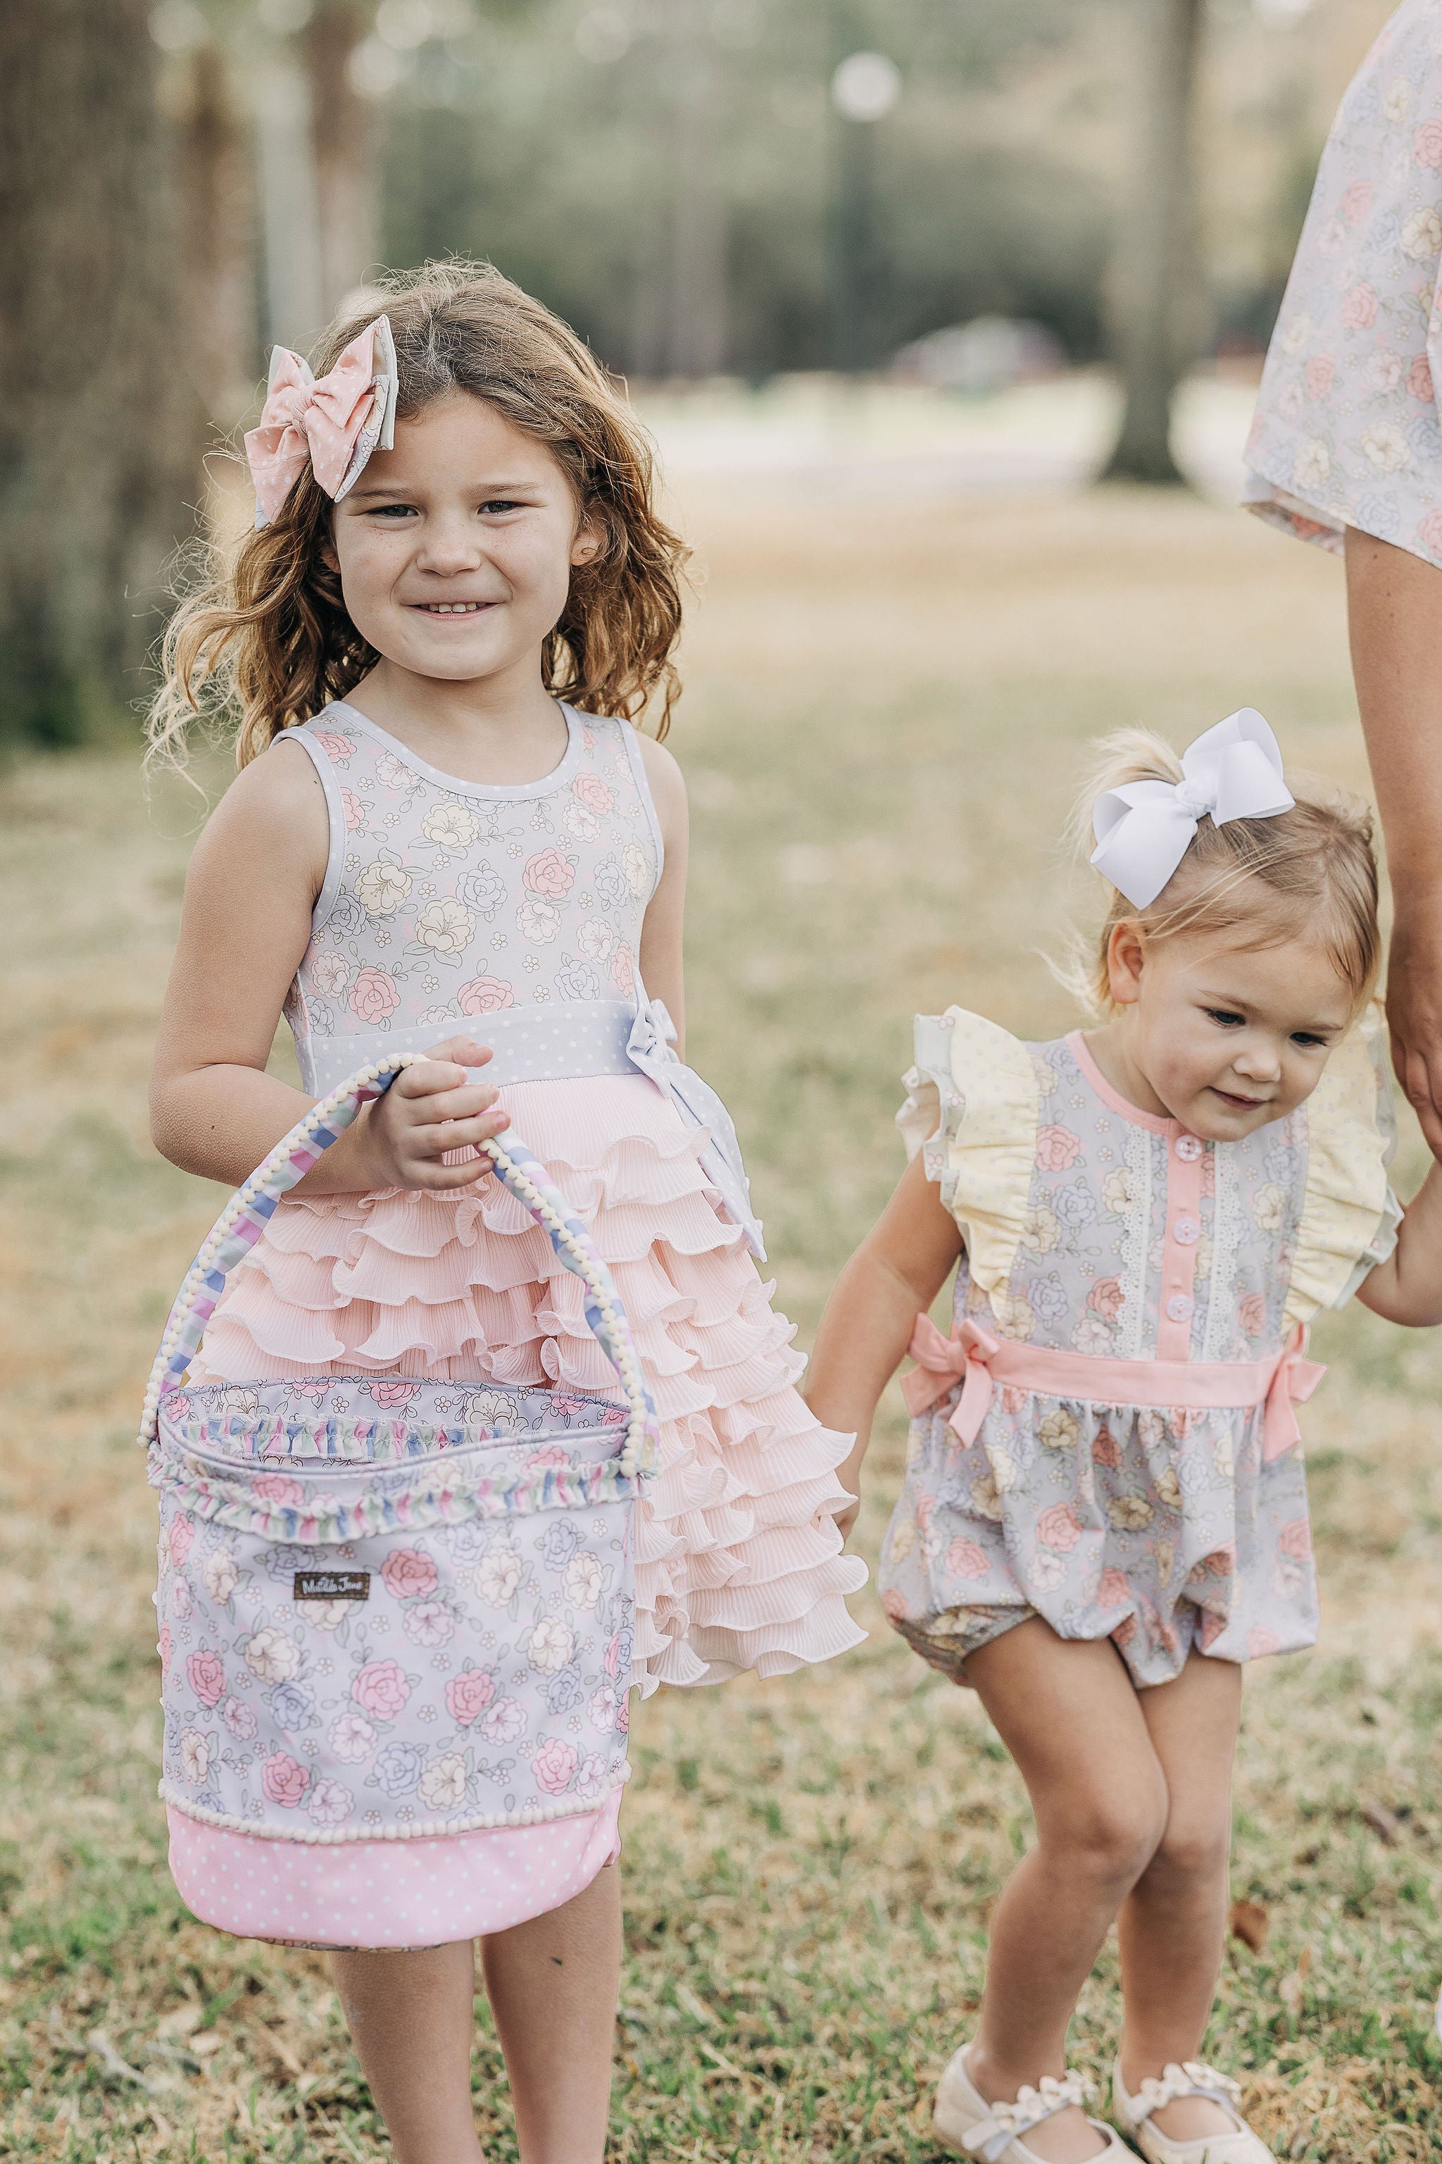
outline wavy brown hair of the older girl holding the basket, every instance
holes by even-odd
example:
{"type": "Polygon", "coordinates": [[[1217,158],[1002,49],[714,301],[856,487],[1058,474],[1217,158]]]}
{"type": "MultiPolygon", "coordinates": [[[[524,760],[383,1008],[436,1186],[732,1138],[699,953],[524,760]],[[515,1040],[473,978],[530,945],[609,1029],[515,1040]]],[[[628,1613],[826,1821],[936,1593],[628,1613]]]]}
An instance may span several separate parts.
{"type": "MultiPolygon", "coordinates": [[[[558,316],[489,264],[426,264],[383,279],[326,331],[316,372],[385,309],[396,340],[398,415],[469,392],[545,444],[601,547],[573,567],[566,608],[540,654],[547,690],[636,721],[659,697],[666,736],[679,692],[687,550],[655,509],[651,441],[620,390],[558,316]]],[[[151,757],[184,762],[201,716],[236,727],[246,766],[294,723],[344,699],[374,669],[322,560],[333,502],[309,465],[279,515],[231,558],[210,547],[162,641],[164,682],[149,712],[151,757]]]]}

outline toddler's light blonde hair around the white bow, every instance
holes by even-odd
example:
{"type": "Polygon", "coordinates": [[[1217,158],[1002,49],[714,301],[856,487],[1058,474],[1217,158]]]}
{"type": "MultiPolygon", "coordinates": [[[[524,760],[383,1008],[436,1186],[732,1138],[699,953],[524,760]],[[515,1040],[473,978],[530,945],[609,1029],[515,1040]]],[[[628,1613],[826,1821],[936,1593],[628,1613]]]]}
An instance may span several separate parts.
{"type": "MultiPolygon", "coordinates": [[[[1183,762],[1159,736],[1118,729],[1103,738],[1068,822],[1072,842],[1092,853],[1092,807],[1103,790],[1180,779],[1183,762]]],[[[1381,965],[1373,820],[1358,799],[1308,775],[1289,775],[1286,786],[1297,801],[1273,818],[1237,818],[1224,827],[1202,818],[1187,855],[1146,909],[1135,909],[1107,883],[1111,900],[1100,935],[1094,944],[1077,939],[1057,969],[1092,1015],[1105,1021],[1116,1013],[1107,948],[1118,924],[1139,924],[1148,939],[1256,926],[1256,946],[1280,944],[1306,926],[1349,987],[1353,1017],[1362,1013],[1381,965]]]]}

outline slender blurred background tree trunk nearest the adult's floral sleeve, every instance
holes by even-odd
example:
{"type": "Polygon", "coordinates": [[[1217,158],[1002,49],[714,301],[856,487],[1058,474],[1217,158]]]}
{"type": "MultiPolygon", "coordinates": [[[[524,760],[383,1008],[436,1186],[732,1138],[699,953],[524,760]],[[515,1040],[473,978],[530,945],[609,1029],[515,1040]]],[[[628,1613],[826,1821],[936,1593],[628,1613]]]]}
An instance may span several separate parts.
{"type": "Polygon", "coordinates": [[[1172,394],[1196,351],[1191,89],[1204,0],[1141,0],[1141,108],[1116,270],[1126,409],[1109,480],[1176,487],[1172,394]]]}

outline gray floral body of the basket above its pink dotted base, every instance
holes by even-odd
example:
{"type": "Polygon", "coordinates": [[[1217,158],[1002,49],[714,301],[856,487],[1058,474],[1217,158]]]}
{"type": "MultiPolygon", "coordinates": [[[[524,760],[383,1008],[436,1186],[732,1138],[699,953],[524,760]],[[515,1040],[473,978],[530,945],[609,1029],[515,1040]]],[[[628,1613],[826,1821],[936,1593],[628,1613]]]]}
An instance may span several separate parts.
{"type": "Polygon", "coordinates": [[[625,1781],[625,1428],[277,1463],[242,1415],[223,1450],[197,1441],[177,1398],[151,1454],[166,1803],[272,1839],[404,1839],[590,1811],[625,1781]]]}

